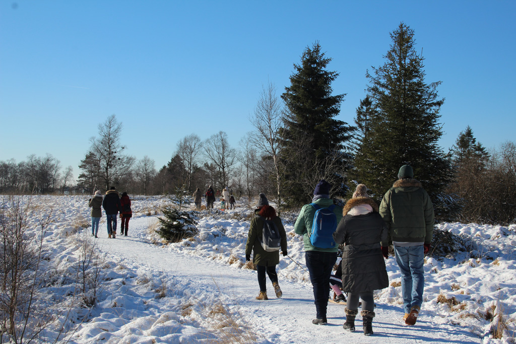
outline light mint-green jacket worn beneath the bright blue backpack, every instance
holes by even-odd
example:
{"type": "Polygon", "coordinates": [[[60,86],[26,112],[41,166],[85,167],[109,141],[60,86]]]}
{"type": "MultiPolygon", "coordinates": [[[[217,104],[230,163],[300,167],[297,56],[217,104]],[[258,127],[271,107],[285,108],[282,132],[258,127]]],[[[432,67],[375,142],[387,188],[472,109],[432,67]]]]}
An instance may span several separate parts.
{"type": "MultiPolygon", "coordinates": [[[[333,204],[333,199],[320,198],[313,203],[317,204],[321,208],[328,208],[330,205],[333,204]]],[[[335,208],[333,208],[333,212],[335,213],[335,216],[337,217],[337,223],[341,222],[342,207],[336,205],[335,208]]],[[[315,215],[315,208],[312,207],[310,204],[305,204],[305,205],[303,205],[303,207],[301,208],[301,211],[299,212],[299,216],[297,217],[296,224],[294,224],[294,232],[296,232],[296,234],[298,234],[298,235],[303,236],[304,251],[337,252],[338,251],[337,243],[335,243],[335,247],[332,249],[320,249],[320,248],[312,245],[312,242],[310,242],[310,236],[312,235],[312,225],[314,222],[314,215],[315,215]]]]}

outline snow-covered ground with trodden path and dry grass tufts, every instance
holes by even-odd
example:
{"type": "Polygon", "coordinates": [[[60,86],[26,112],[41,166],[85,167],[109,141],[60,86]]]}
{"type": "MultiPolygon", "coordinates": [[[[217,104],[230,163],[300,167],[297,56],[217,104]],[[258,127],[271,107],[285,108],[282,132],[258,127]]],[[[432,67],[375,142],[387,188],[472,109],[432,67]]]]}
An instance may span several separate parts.
{"type": "MultiPolygon", "coordinates": [[[[63,299],[60,314],[68,316],[61,315],[61,323],[70,329],[68,336],[61,335],[63,342],[514,342],[516,225],[440,224],[441,230],[462,237],[470,249],[454,257],[426,258],[424,303],[415,326],[406,326],[401,319],[400,273],[395,259],[389,257],[386,266],[391,286],[375,293],[375,334],[366,337],[361,326],[354,333],[343,330],[342,305],[328,305],[327,326],[311,323],[315,317],[312,287],[305,271],[302,238],[293,232],[297,214],[284,216],[288,255],[293,260],[282,257],[277,268],[283,297],[274,297],[268,281],[269,300],[257,301],[256,272],[245,265],[244,252],[252,209],[204,212],[206,216],[197,225],[199,235],[164,245],[153,230],[159,208],[168,199],[132,198],[129,236],[116,239],[107,238],[104,218],[99,239],[91,238],[91,228],[84,228],[90,220],[88,199],[33,197],[35,204],[42,205],[31,220],[34,227],[53,209],[53,222],[44,238],[43,263],[48,271],[55,270],[56,276],[43,292],[63,299]],[[74,294],[73,283],[62,277],[63,271],[83,259],[85,243],[101,253],[99,301],[90,308],[84,301],[66,302],[74,294]],[[507,329],[502,339],[494,339],[490,331],[501,315],[507,329]]],[[[91,291],[87,295],[91,296],[91,291]]],[[[54,341],[59,327],[57,323],[49,326],[42,333],[42,342],[54,341]]]]}

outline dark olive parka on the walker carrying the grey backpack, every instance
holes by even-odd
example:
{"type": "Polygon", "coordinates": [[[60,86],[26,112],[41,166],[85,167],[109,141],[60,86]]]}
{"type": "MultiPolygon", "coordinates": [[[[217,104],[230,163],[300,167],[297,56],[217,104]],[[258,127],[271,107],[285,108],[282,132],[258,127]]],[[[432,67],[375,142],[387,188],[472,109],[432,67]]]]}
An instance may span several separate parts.
{"type": "MultiPolygon", "coordinates": [[[[268,252],[265,251],[262,248],[262,244],[259,240],[263,236],[263,220],[260,219],[258,216],[263,216],[267,218],[267,214],[260,214],[260,211],[262,209],[256,209],[254,210],[254,214],[256,217],[254,217],[251,220],[251,225],[249,227],[249,234],[247,236],[247,243],[246,243],[246,255],[251,255],[251,252],[253,252],[253,263],[255,265],[260,266],[275,266],[280,263],[280,251],[273,251],[268,252]]],[[[272,221],[276,224],[278,227],[278,230],[280,231],[280,237],[281,237],[281,252],[287,252],[287,236],[285,233],[285,228],[283,227],[283,223],[281,222],[281,219],[279,217],[272,217],[272,221]]]]}

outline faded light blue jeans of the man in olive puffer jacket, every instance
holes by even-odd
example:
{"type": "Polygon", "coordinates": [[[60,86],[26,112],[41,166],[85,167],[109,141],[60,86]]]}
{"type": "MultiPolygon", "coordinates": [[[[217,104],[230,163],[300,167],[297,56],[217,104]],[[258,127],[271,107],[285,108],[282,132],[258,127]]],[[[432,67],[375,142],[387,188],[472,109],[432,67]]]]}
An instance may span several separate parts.
{"type": "Polygon", "coordinates": [[[395,246],[396,261],[401,271],[401,293],[405,313],[410,313],[413,306],[423,303],[425,275],[423,270],[423,245],[400,247],[395,246]]]}

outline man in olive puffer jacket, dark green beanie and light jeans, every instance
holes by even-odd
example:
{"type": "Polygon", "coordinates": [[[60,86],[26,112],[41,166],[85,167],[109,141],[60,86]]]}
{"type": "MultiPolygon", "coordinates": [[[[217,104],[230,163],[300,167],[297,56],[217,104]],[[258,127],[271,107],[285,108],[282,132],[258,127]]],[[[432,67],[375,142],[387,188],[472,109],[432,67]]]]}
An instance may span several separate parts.
{"type": "MultiPolygon", "coordinates": [[[[383,196],[380,215],[389,228],[401,271],[404,320],[407,325],[413,325],[423,303],[423,263],[432,242],[434,216],[428,193],[414,179],[410,165],[399,169],[398,181],[383,196]]],[[[382,241],[381,245],[386,256],[388,242],[382,241]]]]}

